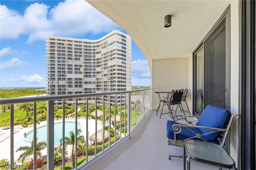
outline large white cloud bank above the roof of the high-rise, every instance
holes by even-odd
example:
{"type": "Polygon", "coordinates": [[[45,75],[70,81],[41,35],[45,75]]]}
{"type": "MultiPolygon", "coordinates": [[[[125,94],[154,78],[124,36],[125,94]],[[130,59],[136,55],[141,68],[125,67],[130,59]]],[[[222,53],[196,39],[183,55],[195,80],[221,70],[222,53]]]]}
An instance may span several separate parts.
{"type": "Polygon", "coordinates": [[[24,14],[1,5],[1,38],[15,39],[28,35],[27,43],[45,40],[45,36],[98,34],[119,28],[84,0],[66,0],[52,8],[38,2],[28,6],[24,14]]]}

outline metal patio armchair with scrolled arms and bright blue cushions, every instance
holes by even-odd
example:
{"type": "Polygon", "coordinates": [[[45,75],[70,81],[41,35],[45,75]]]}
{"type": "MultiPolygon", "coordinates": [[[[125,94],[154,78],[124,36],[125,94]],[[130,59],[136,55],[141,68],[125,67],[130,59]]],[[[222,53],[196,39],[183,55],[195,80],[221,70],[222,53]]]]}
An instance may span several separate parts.
{"type": "MultiPolygon", "coordinates": [[[[212,142],[223,147],[233,118],[238,117],[238,115],[231,115],[226,109],[214,105],[206,106],[196,125],[185,125],[175,122],[179,116],[172,115],[174,121],[167,121],[166,126],[168,144],[179,147],[183,147],[184,140],[187,139],[212,142]]],[[[182,117],[184,116],[182,115],[182,117]]],[[[198,118],[191,115],[185,117],[198,118]]],[[[183,153],[180,155],[169,155],[169,159],[171,157],[183,157],[183,153]]]]}

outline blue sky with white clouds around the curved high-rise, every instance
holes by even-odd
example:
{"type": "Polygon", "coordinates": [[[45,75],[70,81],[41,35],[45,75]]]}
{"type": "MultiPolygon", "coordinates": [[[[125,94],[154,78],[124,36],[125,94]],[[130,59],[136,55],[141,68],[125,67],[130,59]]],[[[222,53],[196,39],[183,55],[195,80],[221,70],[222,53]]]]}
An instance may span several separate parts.
{"type": "MultiPolygon", "coordinates": [[[[45,36],[97,40],[125,30],[84,0],[0,1],[0,88],[46,87],[45,36]]],[[[151,86],[148,61],[132,42],[132,86],[151,86]]]]}

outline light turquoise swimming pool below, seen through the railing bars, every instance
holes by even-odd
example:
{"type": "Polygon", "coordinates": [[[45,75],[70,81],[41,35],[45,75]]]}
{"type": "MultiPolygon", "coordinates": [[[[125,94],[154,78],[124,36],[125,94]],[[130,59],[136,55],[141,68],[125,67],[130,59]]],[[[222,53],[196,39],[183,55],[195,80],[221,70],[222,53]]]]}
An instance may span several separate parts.
{"type": "MultiPolygon", "coordinates": [[[[77,129],[80,129],[81,125],[77,123],[77,129]]],[[[75,122],[65,122],[65,136],[70,137],[70,132],[75,132],[75,122]]],[[[38,142],[47,141],[47,126],[36,128],[36,137],[38,142]]],[[[78,133],[77,136],[80,136],[78,133]]],[[[32,141],[34,138],[34,130],[31,130],[26,134],[26,140],[32,141]]],[[[54,144],[60,144],[62,138],[62,122],[54,123],[54,144]]]]}

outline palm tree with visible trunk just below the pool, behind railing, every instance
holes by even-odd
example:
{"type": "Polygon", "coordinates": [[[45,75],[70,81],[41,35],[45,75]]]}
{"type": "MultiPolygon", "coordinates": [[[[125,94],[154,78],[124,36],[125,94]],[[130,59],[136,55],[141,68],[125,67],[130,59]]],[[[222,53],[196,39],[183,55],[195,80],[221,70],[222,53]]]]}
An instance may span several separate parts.
{"type": "MultiPolygon", "coordinates": [[[[78,129],[77,133],[81,132],[81,131],[82,131],[81,129],[78,129]]],[[[76,143],[76,140],[75,140],[76,136],[73,131],[71,131],[69,133],[69,135],[70,135],[70,137],[67,137],[67,136],[65,137],[65,144],[72,145],[71,158],[72,158],[72,169],[73,169],[73,167],[74,167],[74,146],[76,143]]],[[[77,138],[77,143],[81,143],[83,140],[84,140],[84,136],[79,136],[77,138]]],[[[60,146],[62,146],[62,138],[60,139],[60,146]]]]}

